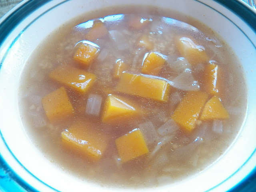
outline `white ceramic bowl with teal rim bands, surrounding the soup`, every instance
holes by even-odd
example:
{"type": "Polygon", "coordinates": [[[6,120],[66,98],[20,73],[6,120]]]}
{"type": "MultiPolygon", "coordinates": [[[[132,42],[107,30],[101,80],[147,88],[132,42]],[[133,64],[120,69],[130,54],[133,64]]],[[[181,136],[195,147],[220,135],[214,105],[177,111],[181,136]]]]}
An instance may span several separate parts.
{"type": "Polygon", "coordinates": [[[5,176],[11,178],[6,187],[44,192],[132,190],[102,188],[52,164],[28,137],[18,109],[18,86],[24,64],[48,34],[85,12],[127,4],[170,8],[207,24],[234,49],[248,86],[246,118],[228,150],[199,174],[147,191],[227,191],[255,172],[256,13],[249,6],[225,0],[25,0],[0,20],[0,162],[2,171],[8,170],[5,176]]]}

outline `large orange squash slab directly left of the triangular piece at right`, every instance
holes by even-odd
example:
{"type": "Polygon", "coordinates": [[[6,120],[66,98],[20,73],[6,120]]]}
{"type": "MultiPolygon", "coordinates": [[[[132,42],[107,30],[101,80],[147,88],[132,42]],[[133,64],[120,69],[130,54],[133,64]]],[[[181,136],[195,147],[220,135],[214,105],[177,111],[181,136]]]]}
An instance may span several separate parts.
{"type": "Polygon", "coordinates": [[[208,94],[205,92],[188,92],[174,110],[172,119],[184,130],[192,131],[196,126],[196,121],[207,98],[208,94]]]}

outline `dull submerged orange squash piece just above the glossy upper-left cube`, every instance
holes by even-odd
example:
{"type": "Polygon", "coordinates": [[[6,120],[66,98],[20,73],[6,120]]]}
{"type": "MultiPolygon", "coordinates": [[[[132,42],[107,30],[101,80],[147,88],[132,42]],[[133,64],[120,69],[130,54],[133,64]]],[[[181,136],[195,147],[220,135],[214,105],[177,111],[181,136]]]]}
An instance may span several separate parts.
{"type": "Polygon", "coordinates": [[[101,21],[94,22],[90,31],[86,34],[85,38],[89,41],[94,41],[96,39],[103,38],[108,34],[108,29],[105,27],[104,23],[101,21]]]}

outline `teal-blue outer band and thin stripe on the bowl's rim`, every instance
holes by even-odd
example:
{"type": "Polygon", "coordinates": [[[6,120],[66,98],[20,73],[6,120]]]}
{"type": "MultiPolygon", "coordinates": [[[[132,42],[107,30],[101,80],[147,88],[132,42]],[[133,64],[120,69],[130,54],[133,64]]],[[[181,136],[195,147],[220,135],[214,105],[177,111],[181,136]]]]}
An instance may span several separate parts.
{"type": "MultiPolygon", "coordinates": [[[[0,45],[4,42],[4,40],[10,34],[10,32],[12,32],[12,30],[16,26],[18,26],[18,24],[20,22],[22,22],[22,20],[24,20],[24,18],[26,18],[29,14],[34,12],[34,10],[37,10],[38,8],[44,6],[45,4],[47,4],[50,1],[51,0],[40,0],[40,1],[28,0],[26,3],[22,4],[21,6],[17,7],[15,10],[13,10],[10,13],[10,15],[2,23],[0,23],[0,45]]],[[[56,6],[59,6],[60,4],[63,4],[63,3],[68,2],[68,1],[70,1],[70,0],[64,0],[63,2],[60,2],[59,4],[55,5],[54,7],[51,7],[50,9],[46,10],[40,16],[46,14],[48,11],[54,9],[56,6]]],[[[218,12],[217,10],[215,10],[211,6],[201,2],[200,0],[194,0],[194,1],[199,2],[201,4],[204,4],[204,6],[207,6],[208,8],[211,8],[212,10],[218,12]]],[[[238,17],[240,17],[256,33],[256,12],[254,12],[254,10],[248,8],[240,0],[235,0],[235,1],[232,1],[232,2],[227,1],[227,0],[214,0],[214,1],[217,2],[218,4],[221,4],[222,6],[224,6],[225,8],[227,8],[228,10],[230,10],[231,12],[236,14],[238,17]]],[[[218,13],[221,14],[222,16],[224,16],[226,19],[228,19],[224,14],[222,14],[220,12],[218,12],[218,13]]],[[[26,28],[28,28],[32,23],[34,23],[38,18],[40,18],[40,16],[38,16],[30,24],[28,24],[28,26],[26,26],[26,28]]],[[[228,20],[230,22],[232,22],[230,19],[228,19],[228,20]]],[[[232,22],[232,23],[234,24],[234,22],[232,22]]],[[[236,24],[234,24],[234,25],[248,38],[248,40],[251,42],[251,44],[256,49],[256,45],[242,31],[242,29],[240,29],[236,24]]],[[[24,30],[26,30],[26,28],[24,30]]],[[[24,32],[24,30],[22,30],[20,32],[20,34],[14,39],[14,41],[12,42],[10,47],[8,48],[4,58],[2,59],[2,61],[0,61],[0,69],[1,69],[1,66],[2,66],[2,62],[4,61],[6,55],[8,54],[8,51],[10,50],[12,45],[16,42],[16,40],[20,37],[22,32],[24,32]]],[[[4,141],[4,144],[6,145],[6,148],[12,154],[14,159],[22,167],[24,167],[21,164],[21,162],[19,162],[19,160],[16,158],[16,156],[14,156],[14,154],[12,153],[10,148],[8,147],[8,144],[5,142],[1,130],[0,130],[0,136],[1,136],[2,140],[4,141]]],[[[255,153],[256,153],[256,149],[251,154],[251,156],[253,156],[255,153]]],[[[238,170],[236,170],[236,172],[238,172],[248,162],[248,160],[250,160],[251,156],[246,160],[246,162],[244,162],[244,164],[240,168],[238,168],[238,170]]],[[[8,165],[8,163],[2,158],[1,154],[0,154],[0,165],[1,165],[0,169],[2,170],[2,172],[0,170],[0,179],[5,179],[6,182],[9,182],[9,185],[8,186],[6,185],[6,187],[8,187],[8,188],[6,188],[6,189],[0,188],[0,190],[6,190],[6,191],[18,191],[19,190],[19,191],[22,191],[22,192],[23,191],[28,191],[28,192],[37,192],[38,191],[38,190],[36,190],[36,188],[34,188],[30,184],[28,184],[25,180],[23,180],[18,174],[16,174],[16,172],[14,172],[14,170],[12,170],[12,168],[8,165]]],[[[49,188],[51,188],[52,190],[54,190],[56,192],[59,192],[55,188],[52,188],[51,186],[49,186],[48,184],[44,183],[42,180],[40,180],[39,178],[34,176],[26,168],[25,168],[25,170],[28,173],[30,173],[36,180],[40,181],[42,184],[48,186],[49,188]]],[[[229,178],[234,176],[234,174],[236,174],[236,172],[234,172],[226,180],[228,180],[229,178]]],[[[210,190],[216,188],[217,186],[221,185],[226,180],[224,180],[220,184],[210,188],[208,191],[210,191],[210,190]]],[[[246,192],[256,191],[256,167],[242,181],[240,181],[238,184],[236,184],[236,186],[234,186],[233,188],[230,189],[230,192],[238,192],[238,191],[246,191],[246,192]]]]}

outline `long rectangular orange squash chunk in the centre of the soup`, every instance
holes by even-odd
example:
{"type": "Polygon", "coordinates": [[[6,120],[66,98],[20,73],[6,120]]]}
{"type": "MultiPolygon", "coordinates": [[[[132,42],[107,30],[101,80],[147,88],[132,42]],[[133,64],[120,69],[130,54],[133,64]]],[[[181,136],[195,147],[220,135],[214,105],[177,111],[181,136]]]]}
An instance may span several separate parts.
{"type": "Polygon", "coordinates": [[[170,94],[170,84],[162,79],[124,72],[116,91],[166,102],[170,94]]]}

